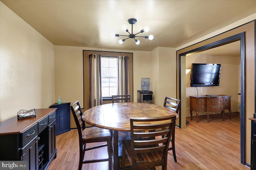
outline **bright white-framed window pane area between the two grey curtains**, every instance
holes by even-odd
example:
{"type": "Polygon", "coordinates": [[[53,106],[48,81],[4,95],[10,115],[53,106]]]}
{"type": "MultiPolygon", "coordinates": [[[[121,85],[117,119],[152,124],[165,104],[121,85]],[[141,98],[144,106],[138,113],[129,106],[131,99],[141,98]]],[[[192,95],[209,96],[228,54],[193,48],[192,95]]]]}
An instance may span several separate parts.
{"type": "Polygon", "coordinates": [[[118,57],[101,57],[102,98],[117,95],[118,57]]]}

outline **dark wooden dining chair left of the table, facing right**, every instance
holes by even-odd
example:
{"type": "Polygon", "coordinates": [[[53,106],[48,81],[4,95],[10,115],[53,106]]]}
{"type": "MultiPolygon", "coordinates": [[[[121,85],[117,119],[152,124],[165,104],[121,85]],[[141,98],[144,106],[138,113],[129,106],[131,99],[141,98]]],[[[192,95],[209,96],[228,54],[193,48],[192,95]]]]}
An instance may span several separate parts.
{"type": "Polygon", "coordinates": [[[107,129],[102,129],[98,127],[85,127],[85,122],[82,118],[82,109],[80,107],[79,101],[76,101],[72,104],[71,110],[76,122],[76,127],[78,130],[79,136],[79,166],[78,170],[82,169],[82,164],[93,163],[93,162],[104,162],[108,161],[109,170],[112,170],[112,144],[111,144],[111,131],[107,129]],[[82,126],[82,130],[81,130],[82,126]],[[88,143],[97,143],[97,142],[107,142],[103,145],[98,145],[96,147],[86,148],[88,143]],[[84,156],[87,150],[92,150],[100,147],[108,147],[108,158],[104,159],[94,159],[94,160],[84,160],[84,156]]]}

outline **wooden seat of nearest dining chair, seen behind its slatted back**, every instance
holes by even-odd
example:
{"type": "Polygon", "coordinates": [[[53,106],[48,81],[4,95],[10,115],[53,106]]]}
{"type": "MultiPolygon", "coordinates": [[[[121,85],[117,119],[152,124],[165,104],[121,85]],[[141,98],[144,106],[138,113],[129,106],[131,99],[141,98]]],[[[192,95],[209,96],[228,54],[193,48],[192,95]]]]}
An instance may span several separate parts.
{"type": "MultiPolygon", "coordinates": [[[[131,140],[123,140],[122,146],[127,150],[130,157],[132,157],[132,146],[131,140]]],[[[158,145],[156,145],[158,146],[158,145]]],[[[154,146],[152,146],[154,147],[154,146]]],[[[135,162],[138,164],[156,162],[162,160],[162,151],[157,152],[147,152],[147,153],[136,153],[135,154],[135,162]]]]}

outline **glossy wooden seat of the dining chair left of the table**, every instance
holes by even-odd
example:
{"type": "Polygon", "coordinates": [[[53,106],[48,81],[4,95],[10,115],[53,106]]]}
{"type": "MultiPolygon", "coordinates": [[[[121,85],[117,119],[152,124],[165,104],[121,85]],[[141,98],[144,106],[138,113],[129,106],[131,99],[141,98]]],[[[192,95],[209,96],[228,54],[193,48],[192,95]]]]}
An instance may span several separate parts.
{"type": "Polygon", "coordinates": [[[83,140],[91,140],[98,138],[111,138],[111,132],[108,129],[102,129],[99,127],[88,127],[82,131],[83,140]]]}

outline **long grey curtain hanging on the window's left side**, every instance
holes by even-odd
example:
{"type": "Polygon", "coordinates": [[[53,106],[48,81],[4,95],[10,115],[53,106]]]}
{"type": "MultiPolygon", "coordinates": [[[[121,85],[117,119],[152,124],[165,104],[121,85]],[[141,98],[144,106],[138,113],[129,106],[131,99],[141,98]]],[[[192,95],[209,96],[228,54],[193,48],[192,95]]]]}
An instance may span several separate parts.
{"type": "Polygon", "coordinates": [[[90,61],[90,107],[102,105],[100,55],[89,55],[90,61]]]}

